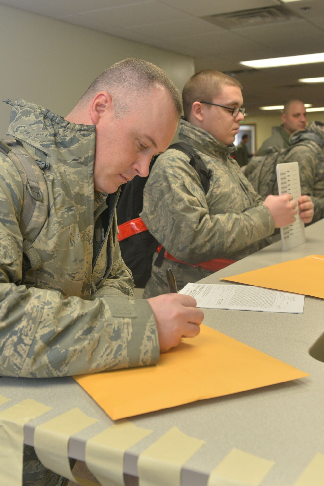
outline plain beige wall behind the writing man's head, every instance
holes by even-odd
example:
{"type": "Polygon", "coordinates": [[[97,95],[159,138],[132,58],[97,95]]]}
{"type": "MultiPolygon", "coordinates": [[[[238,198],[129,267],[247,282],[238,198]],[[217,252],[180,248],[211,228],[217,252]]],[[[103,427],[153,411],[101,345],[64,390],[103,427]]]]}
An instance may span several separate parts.
{"type": "Polygon", "coordinates": [[[0,133],[22,98],[66,116],[93,79],[126,57],[162,68],[181,90],[195,72],[191,57],[0,5],[0,133]]]}

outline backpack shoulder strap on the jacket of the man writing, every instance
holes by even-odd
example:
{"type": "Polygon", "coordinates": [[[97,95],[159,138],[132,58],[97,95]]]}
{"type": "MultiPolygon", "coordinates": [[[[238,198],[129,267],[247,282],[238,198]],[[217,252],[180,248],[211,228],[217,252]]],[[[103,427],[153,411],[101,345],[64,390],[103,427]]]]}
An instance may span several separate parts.
{"type": "Polygon", "coordinates": [[[43,171],[22,143],[9,136],[0,137],[0,151],[13,162],[23,182],[23,207],[19,228],[23,239],[30,243],[37,238],[48,214],[48,191],[43,171]],[[33,218],[34,216],[34,218],[33,218]]]}

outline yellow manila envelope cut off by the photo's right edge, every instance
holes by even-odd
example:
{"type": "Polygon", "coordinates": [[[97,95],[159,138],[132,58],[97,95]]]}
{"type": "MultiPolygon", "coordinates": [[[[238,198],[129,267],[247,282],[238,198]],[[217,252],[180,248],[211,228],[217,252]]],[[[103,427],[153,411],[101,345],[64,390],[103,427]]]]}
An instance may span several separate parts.
{"type": "Polygon", "coordinates": [[[219,280],[283,290],[324,299],[324,256],[309,255],[219,280]]]}

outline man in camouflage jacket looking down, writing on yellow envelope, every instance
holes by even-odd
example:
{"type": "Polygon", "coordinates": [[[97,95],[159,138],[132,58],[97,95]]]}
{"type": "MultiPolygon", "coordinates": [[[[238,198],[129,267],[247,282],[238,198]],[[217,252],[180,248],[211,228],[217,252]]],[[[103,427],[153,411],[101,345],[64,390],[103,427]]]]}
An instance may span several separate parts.
{"type": "MultiPolygon", "coordinates": [[[[161,69],[127,59],[96,78],[65,119],[22,100],[12,105],[10,138],[46,161],[49,211],[32,242],[38,264],[26,263],[19,228],[26,184],[1,152],[0,374],[56,377],[157,363],[161,350],[198,334],[203,312],[187,295],[133,299],[115,207],[120,185],[147,175],[152,156],[168,147],[179,91],[161,69]]],[[[26,447],[24,485],[56,485],[57,475],[31,454],[26,447]]]]}

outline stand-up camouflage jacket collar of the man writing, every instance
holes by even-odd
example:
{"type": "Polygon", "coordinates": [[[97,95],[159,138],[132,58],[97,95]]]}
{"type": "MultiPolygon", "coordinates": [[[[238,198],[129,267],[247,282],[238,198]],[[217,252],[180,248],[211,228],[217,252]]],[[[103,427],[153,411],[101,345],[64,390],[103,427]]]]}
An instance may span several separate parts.
{"type": "Polygon", "coordinates": [[[8,135],[48,156],[72,165],[88,165],[93,171],[95,125],[70,123],[47,108],[24,100],[15,103],[5,100],[5,103],[12,105],[8,135]]]}

